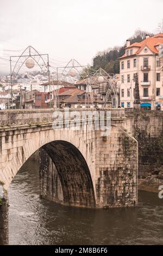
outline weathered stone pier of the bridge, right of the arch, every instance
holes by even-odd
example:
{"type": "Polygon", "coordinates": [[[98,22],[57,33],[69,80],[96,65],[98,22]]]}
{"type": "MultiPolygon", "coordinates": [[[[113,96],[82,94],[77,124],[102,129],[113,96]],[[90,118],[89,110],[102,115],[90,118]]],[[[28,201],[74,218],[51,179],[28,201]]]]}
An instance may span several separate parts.
{"type": "Polygon", "coordinates": [[[137,204],[138,145],[121,127],[111,126],[111,136],[96,138],[97,207],[137,204]]]}

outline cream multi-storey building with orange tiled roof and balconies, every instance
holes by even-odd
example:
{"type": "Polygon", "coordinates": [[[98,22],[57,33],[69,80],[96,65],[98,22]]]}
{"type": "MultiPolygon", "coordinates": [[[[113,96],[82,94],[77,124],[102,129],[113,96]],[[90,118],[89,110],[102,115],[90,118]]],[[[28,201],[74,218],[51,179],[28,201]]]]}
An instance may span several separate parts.
{"type": "Polygon", "coordinates": [[[141,107],[163,110],[162,58],[159,49],[163,45],[163,33],[130,45],[120,57],[120,105],[133,107],[135,77],[138,75],[141,107]]]}

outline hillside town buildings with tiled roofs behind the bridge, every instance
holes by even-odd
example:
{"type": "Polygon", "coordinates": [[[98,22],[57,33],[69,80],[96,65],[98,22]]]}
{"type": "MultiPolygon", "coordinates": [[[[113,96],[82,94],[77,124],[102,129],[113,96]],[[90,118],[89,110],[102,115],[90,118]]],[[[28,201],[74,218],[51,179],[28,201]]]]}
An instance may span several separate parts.
{"type": "MultiPolygon", "coordinates": [[[[8,108],[51,108],[51,107],[122,107],[133,108],[135,101],[135,78],[139,88],[141,109],[163,110],[162,87],[163,33],[146,35],[141,42],[126,41],[125,53],[118,58],[120,74],[108,74],[114,81],[116,96],[110,90],[110,80],[79,79],[70,74],[58,80],[57,72],[51,77],[40,71],[16,74],[11,85],[11,76],[0,77],[0,109],[8,108]],[[90,82],[91,81],[91,82],[90,82]],[[90,86],[89,86],[90,85],[90,86]],[[103,88],[103,89],[102,89],[103,88]],[[106,99],[107,92],[110,95],[106,99]],[[86,97],[89,101],[86,102],[86,97]],[[92,97],[92,100],[91,100],[92,97]],[[117,99],[115,99],[117,97],[117,99]],[[115,101],[117,100],[117,105],[115,101]]],[[[81,77],[83,78],[83,77],[81,77]]]]}

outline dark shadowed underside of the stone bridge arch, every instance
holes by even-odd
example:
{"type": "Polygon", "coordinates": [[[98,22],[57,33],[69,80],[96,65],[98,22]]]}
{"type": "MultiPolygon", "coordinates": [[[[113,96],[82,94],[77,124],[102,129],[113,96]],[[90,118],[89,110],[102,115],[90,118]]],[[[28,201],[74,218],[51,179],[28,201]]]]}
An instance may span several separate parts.
{"type": "MultiPolygon", "coordinates": [[[[80,151],[70,142],[61,140],[49,142],[42,148],[51,157],[57,169],[61,182],[63,204],[95,207],[95,192],[90,170],[80,151]]],[[[43,167],[44,161],[47,159],[44,159],[43,154],[41,156],[43,156],[41,157],[43,167]]],[[[47,169],[46,165],[45,169],[47,169]]],[[[40,172],[44,171],[43,168],[40,168],[40,172]]],[[[52,172],[54,172],[53,169],[52,172]]],[[[49,185],[51,183],[49,176],[51,175],[51,173],[47,175],[49,185]]]]}

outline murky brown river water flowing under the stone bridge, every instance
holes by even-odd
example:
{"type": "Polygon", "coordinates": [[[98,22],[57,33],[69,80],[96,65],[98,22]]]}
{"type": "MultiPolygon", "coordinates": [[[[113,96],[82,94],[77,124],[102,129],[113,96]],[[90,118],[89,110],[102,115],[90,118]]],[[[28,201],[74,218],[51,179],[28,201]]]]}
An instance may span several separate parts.
{"type": "Polygon", "coordinates": [[[163,243],[163,199],[139,192],[133,209],[68,208],[39,197],[39,166],[29,159],[9,187],[10,245],[163,243]]]}

